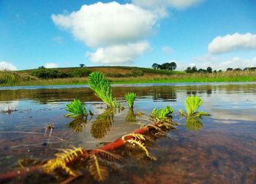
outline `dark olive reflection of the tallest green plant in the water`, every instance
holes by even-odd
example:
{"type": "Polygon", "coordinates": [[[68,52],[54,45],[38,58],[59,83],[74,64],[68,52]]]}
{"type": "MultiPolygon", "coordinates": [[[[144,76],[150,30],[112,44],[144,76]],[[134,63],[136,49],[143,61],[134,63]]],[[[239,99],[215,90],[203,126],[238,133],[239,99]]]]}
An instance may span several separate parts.
{"type": "Polygon", "coordinates": [[[91,123],[91,135],[95,139],[102,139],[110,131],[113,123],[114,112],[107,109],[98,115],[96,120],[91,123]]]}

